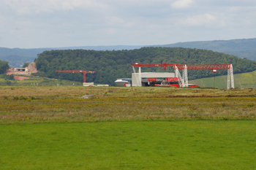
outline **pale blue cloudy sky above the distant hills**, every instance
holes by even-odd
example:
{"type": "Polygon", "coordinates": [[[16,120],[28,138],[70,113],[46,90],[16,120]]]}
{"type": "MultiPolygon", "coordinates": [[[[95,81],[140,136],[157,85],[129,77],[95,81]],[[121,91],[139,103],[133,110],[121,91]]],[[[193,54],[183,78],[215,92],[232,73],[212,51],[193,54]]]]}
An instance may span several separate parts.
{"type": "Polygon", "coordinates": [[[0,0],[0,47],[256,38],[255,0],[0,0]]]}

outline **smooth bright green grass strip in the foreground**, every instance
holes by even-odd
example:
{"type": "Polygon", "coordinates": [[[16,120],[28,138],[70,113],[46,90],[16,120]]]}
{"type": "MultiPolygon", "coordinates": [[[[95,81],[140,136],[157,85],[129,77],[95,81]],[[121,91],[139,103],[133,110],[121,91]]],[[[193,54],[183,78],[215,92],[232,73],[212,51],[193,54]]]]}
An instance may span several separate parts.
{"type": "Polygon", "coordinates": [[[256,169],[256,123],[0,125],[0,169],[256,169]]]}

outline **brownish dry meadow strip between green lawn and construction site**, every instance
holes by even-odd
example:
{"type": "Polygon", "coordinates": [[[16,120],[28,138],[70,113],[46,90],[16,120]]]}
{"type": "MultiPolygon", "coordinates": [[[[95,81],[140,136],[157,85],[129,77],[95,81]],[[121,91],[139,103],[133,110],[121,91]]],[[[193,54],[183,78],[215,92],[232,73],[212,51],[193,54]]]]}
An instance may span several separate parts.
{"type": "Polygon", "coordinates": [[[255,120],[256,90],[2,86],[0,123],[255,120]],[[80,98],[94,95],[91,98],[80,98]]]}

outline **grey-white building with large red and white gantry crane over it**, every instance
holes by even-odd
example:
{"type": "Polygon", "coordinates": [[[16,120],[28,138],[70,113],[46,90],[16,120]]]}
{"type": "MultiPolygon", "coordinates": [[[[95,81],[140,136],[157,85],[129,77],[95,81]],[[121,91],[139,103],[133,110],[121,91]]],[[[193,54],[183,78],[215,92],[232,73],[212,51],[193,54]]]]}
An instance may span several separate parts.
{"type": "Polygon", "coordinates": [[[234,88],[233,66],[228,64],[204,64],[204,65],[187,65],[187,64],[140,64],[133,63],[132,78],[119,78],[116,80],[116,85],[126,87],[142,87],[142,86],[174,86],[176,88],[195,88],[198,85],[189,84],[187,70],[188,69],[211,69],[211,72],[217,72],[218,69],[227,69],[227,89],[234,88]],[[162,66],[162,69],[167,69],[167,66],[172,66],[175,73],[171,72],[141,72],[143,66],[162,66]],[[135,71],[138,67],[138,72],[135,71]],[[182,75],[179,72],[182,70],[182,75]]]}

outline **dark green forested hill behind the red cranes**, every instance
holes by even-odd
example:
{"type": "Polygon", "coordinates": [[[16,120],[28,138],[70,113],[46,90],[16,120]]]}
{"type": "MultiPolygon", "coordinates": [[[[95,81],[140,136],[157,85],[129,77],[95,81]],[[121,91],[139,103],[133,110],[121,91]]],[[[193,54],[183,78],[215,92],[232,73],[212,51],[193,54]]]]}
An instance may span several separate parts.
{"type": "MultiPolygon", "coordinates": [[[[256,61],[237,58],[211,50],[198,50],[181,47],[143,47],[138,50],[51,50],[39,54],[37,70],[47,77],[83,82],[83,74],[56,73],[56,70],[86,70],[95,74],[86,74],[86,82],[108,83],[114,85],[117,78],[131,77],[132,63],[157,64],[224,64],[232,63],[234,73],[256,70],[256,61]]],[[[142,72],[165,72],[162,67],[143,67],[142,72]]],[[[173,72],[168,67],[166,72],[173,72]]],[[[189,70],[189,80],[225,75],[227,70],[189,70]]]]}

